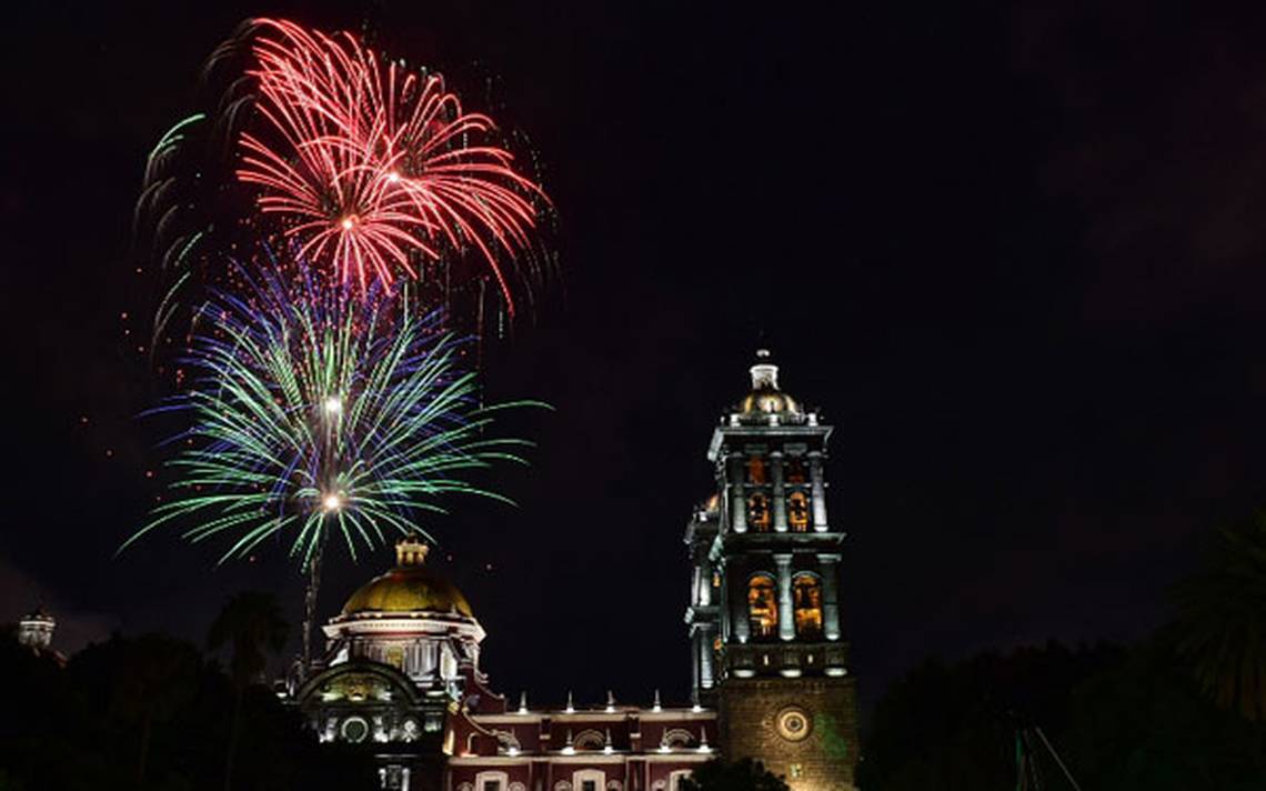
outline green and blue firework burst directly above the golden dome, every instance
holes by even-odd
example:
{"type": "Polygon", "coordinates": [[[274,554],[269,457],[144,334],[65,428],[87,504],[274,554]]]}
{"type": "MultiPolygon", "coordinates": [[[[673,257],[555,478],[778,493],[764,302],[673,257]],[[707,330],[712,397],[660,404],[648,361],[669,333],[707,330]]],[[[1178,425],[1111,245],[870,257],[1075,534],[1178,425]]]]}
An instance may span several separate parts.
{"type": "Polygon", "coordinates": [[[498,410],[525,402],[479,406],[462,342],[434,315],[313,276],[242,277],[246,296],[205,306],[209,329],[187,361],[197,380],[165,408],[194,421],[173,438],[175,499],[123,548],[185,523],[189,540],[228,539],[222,562],[276,537],[308,566],[327,535],[354,558],[384,530],[442,513],[444,495],[505,500],[462,476],[523,461],[515,451],[529,443],[486,433],[498,410]]]}

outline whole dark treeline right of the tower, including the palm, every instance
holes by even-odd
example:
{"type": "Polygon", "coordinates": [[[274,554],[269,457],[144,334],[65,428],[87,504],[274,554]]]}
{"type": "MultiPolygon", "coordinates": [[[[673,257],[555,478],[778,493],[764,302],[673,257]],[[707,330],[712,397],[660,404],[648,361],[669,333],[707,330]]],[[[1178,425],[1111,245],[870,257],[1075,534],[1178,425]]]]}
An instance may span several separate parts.
{"type": "Polygon", "coordinates": [[[1136,645],[928,661],[876,705],[863,791],[1266,790],[1266,518],[1219,530],[1136,645]],[[1041,729],[1038,734],[1037,729],[1041,729]]]}

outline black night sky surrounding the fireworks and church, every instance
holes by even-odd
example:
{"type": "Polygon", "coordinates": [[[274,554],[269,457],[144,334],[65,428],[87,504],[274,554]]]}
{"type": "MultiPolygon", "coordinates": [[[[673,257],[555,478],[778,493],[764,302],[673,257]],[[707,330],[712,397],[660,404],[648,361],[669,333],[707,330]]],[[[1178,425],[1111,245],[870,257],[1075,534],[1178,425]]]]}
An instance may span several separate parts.
{"type": "MultiPolygon", "coordinates": [[[[557,411],[518,427],[517,509],[429,525],[510,694],[684,697],[681,533],[761,339],[836,425],[867,702],[932,653],[1142,634],[1201,533],[1262,502],[1266,11],[196,5],[6,19],[0,618],[42,597],[73,648],[200,640],[244,586],[299,615],[276,549],[111,558],[154,495],[110,296],[143,158],[257,14],[491,77],[544,163],[563,276],[486,377],[557,411]]],[[[333,563],[324,611],[387,563],[333,563]]]]}

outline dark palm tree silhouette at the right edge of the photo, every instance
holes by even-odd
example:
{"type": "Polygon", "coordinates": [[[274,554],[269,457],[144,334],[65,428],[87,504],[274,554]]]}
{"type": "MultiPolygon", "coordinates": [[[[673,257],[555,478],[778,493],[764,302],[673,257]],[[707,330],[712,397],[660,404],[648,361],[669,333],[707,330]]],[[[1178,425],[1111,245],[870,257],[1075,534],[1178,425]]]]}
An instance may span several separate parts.
{"type": "Polygon", "coordinates": [[[1223,709],[1266,719],[1266,513],[1219,530],[1175,600],[1175,647],[1204,692],[1223,709]]]}

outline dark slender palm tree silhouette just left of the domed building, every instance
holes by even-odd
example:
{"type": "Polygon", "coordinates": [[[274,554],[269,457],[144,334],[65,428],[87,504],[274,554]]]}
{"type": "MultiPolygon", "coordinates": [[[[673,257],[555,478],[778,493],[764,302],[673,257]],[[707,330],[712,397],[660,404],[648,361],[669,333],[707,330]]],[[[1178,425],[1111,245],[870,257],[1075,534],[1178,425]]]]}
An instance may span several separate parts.
{"type": "Polygon", "coordinates": [[[206,642],[211,651],[232,645],[229,675],[233,677],[233,724],[229,729],[228,754],[224,759],[224,791],[233,783],[233,762],[237,757],[238,730],[242,721],[242,697],[253,683],[263,683],[268,667],[266,651],[273,654],[286,647],[290,625],[281,615],[281,605],[272,594],[243,591],[228,600],[211,624],[206,642]]]}

